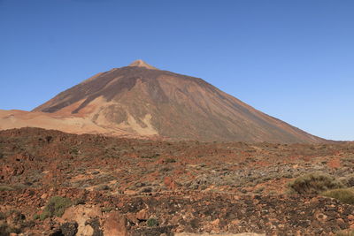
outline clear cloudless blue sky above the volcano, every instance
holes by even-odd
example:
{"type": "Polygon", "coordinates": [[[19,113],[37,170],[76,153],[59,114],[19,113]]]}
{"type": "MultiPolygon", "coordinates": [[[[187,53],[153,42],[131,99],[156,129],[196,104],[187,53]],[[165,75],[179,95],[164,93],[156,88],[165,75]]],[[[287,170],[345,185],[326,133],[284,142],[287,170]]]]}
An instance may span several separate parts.
{"type": "Polygon", "coordinates": [[[0,109],[31,110],[137,58],[354,140],[352,0],[0,0],[0,109]]]}

